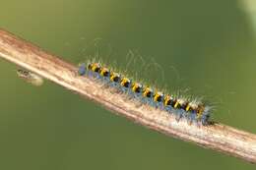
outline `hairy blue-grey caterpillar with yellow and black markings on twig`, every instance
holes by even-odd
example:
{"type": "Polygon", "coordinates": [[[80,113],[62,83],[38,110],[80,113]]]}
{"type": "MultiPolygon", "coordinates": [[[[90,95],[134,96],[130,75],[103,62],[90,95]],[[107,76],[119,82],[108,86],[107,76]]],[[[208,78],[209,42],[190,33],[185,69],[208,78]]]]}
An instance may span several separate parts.
{"type": "Polygon", "coordinates": [[[210,124],[211,107],[199,100],[189,100],[161,92],[159,89],[131,80],[97,62],[81,64],[78,74],[101,80],[106,85],[113,86],[144,104],[164,110],[168,114],[174,114],[177,121],[186,119],[190,124],[193,122],[204,126],[210,124]]]}

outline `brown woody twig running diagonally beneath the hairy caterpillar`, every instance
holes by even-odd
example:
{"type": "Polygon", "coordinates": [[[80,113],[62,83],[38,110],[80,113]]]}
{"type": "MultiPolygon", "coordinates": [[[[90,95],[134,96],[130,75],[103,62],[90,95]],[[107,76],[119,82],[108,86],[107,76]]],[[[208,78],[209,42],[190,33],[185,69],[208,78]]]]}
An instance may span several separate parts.
{"type": "Polygon", "coordinates": [[[256,163],[256,136],[221,124],[210,126],[177,122],[164,111],[138,106],[122,94],[105,90],[95,80],[77,75],[77,67],[13,34],[0,30],[0,57],[160,133],[256,163]]]}

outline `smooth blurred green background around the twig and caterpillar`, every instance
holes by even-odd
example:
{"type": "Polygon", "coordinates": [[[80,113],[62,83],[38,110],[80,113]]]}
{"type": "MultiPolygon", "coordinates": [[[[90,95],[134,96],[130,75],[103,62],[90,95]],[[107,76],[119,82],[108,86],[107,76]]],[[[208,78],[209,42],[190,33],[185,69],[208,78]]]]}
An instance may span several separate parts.
{"type": "MultiPolygon", "coordinates": [[[[74,64],[100,56],[168,90],[188,87],[216,106],[216,121],[256,133],[253,12],[237,0],[2,0],[0,28],[74,64]]],[[[29,85],[6,61],[0,69],[0,169],[255,169],[50,82],[29,85]]]]}

